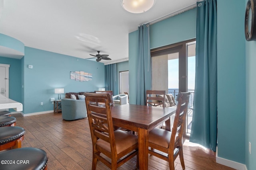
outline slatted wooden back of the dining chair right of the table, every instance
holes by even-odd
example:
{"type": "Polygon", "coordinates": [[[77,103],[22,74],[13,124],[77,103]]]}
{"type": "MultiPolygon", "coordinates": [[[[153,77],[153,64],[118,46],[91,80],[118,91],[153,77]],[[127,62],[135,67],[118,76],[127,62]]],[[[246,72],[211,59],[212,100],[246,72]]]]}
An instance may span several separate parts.
{"type": "Polygon", "coordinates": [[[179,93],[177,100],[177,109],[175,113],[174,123],[172,127],[172,135],[170,140],[171,150],[182,146],[182,136],[184,132],[186,114],[188,112],[190,92],[179,93]]]}

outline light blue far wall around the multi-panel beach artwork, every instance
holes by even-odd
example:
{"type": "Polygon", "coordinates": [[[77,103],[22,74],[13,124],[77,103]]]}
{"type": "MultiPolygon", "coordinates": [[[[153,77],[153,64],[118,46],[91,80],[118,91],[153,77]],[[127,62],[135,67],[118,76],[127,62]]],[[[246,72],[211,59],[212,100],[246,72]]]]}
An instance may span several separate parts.
{"type": "MultiPolygon", "coordinates": [[[[64,93],[92,92],[104,86],[103,63],[30,47],[25,47],[23,60],[25,114],[53,110],[50,98],[58,99],[58,94],[54,94],[54,88],[64,88],[64,93]],[[28,68],[28,65],[33,65],[33,68],[28,68]],[[92,81],[71,80],[70,71],[92,73],[92,81]],[[44,103],[43,106],[40,105],[41,102],[44,103]]],[[[61,97],[64,98],[64,94],[61,97]]]]}

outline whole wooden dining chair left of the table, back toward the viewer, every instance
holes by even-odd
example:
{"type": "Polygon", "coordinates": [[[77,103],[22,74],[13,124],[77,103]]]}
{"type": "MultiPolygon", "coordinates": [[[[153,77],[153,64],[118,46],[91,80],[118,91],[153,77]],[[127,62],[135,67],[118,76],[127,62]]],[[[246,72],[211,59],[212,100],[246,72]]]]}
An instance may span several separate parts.
{"type": "Polygon", "coordinates": [[[114,131],[109,104],[110,94],[84,93],[84,95],[92,137],[92,170],[96,169],[97,160],[115,170],[136,155],[138,168],[138,137],[119,129],[114,131]],[[95,103],[105,105],[102,107],[95,103]],[[111,161],[108,161],[106,156],[111,161]]]}

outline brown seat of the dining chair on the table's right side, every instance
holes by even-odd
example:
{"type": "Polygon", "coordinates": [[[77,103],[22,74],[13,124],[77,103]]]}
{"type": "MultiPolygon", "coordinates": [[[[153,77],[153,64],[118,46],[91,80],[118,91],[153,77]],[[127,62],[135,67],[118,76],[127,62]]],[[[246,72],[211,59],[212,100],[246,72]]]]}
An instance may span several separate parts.
{"type": "Polygon", "coordinates": [[[172,132],[160,128],[154,128],[149,131],[148,142],[168,148],[172,132]]]}

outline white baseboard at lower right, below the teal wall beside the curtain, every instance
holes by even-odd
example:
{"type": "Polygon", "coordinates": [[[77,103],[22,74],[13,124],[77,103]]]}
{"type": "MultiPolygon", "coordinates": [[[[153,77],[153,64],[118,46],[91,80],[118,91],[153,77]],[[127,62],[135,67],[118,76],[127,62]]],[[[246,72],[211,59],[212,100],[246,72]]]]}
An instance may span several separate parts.
{"type": "Polygon", "coordinates": [[[241,164],[238,162],[234,162],[232,160],[218,157],[218,147],[216,148],[216,163],[234,168],[236,170],[247,170],[247,167],[245,164],[241,164]]]}

